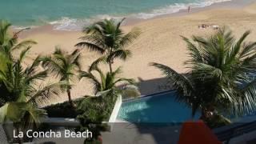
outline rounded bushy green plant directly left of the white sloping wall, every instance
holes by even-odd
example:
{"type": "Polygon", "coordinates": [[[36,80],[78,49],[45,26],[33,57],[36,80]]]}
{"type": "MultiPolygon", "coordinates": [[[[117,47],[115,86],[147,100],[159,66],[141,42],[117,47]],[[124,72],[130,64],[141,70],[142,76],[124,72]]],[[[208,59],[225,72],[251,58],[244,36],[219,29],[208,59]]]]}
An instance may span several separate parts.
{"type": "Polygon", "coordinates": [[[86,142],[97,142],[100,132],[108,130],[108,125],[102,122],[108,122],[117,98],[114,91],[108,94],[112,95],[85,98],[78,106],[79,131],[93,133],[93,138],[87,138],[86,142]]]}

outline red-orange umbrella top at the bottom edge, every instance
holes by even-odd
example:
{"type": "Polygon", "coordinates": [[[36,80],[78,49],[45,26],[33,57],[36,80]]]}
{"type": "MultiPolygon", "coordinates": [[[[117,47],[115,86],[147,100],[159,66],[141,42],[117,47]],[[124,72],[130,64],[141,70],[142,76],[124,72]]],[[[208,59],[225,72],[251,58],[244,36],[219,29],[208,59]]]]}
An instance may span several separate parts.
{"type": "Polygon", "coordinates": [[[221,144],[208,126],[201,120],[185,122],[179,135],[178,144],[221,144]]]}

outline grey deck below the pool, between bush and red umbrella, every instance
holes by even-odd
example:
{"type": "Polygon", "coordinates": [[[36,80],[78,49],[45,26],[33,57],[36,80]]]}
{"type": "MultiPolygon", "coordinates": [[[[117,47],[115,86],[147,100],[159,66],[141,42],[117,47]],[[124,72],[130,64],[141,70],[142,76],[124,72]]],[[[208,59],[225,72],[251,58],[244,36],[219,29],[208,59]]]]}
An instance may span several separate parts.
{"type": "Polygon", "coordinates": [[[111,132],[103,132],[104,144],[172,144],[178,142],[181,126],[139,125],[116,122],[111,132]]]}

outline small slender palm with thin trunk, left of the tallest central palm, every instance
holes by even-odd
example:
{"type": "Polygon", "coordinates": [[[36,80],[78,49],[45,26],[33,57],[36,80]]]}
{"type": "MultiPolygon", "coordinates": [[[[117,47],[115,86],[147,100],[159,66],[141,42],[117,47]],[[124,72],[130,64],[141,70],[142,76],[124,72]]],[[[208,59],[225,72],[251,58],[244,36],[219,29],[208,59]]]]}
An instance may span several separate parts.
{"type": "Polygon", "coordinates": [[[60,48],[56,48],[52,57],[46,57],[43,60],[43,66],[55,74],[56,77],[60,77],[60,81],[66,82],[66,86],[62,88],[66,90],[69,98],[70,106],[74,106],[71,98],[71,82],[78,76],[79,70],[81,70],[81,54],[79,50],[74,50],[72,54],[66,54],[60,48]]]}

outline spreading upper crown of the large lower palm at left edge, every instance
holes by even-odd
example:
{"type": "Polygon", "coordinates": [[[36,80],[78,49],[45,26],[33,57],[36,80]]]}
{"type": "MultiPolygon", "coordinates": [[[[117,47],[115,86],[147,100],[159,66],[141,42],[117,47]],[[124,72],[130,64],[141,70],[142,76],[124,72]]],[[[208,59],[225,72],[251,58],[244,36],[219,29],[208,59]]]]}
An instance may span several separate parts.
{"type": "Polygon", "coordinates": [[[22,62],[29,48],[23,50],[17,60],[7,64],[7,70],[0,71],[0,82],[2,86],[1,106],[6,102],[31,102],[37,105],[47,98],[59,93],[59,84],[42,86],[42,81],[47,77],[46,70],[39,70],[40,56],[35,58],[30,66],[25,68],[22,62]]]}

